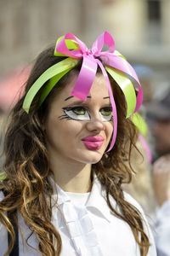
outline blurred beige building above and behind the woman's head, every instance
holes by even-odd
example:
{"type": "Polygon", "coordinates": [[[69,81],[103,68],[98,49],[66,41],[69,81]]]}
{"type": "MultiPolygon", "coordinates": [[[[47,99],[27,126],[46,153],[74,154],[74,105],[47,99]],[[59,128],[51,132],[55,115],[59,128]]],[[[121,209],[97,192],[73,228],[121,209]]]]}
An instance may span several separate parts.
{"type": "Polygon", "coordinates": [[[169,0],[0,0],[0,75],[30,64],[65,32],[90,46],[104,30],[129,61],[170,79],[169,0]]]}

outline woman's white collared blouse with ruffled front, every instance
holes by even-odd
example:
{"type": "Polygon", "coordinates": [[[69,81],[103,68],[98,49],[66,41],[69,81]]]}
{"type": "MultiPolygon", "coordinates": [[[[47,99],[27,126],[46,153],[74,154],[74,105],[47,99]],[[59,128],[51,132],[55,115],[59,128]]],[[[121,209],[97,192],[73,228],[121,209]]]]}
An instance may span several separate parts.
{"type": "MultiPolygon", "coordinates": [[[[105,191],[97,177],[94,177],[90,193],[65,192],[56,183],[54,183],[54,189],[52,223],[59,230],[62,239],[60,256],[140,256],[139,246],[132,230],[126,222],[111,213],[105,201],[105,191]]],[[[124,195],[127,201],[139,209],[144,218],[145,231],[151,244],[147,255],[156,256],[153,236],[142,208],[130,195],[127,193],[124,195]]],[[[2,199],[3,193],[0,195],[0,200],[2,199]]],[[[113,199],[111,204],[116,208],[116,202],[113,199]]],[[[27,241],[31,247],[26,244],[26,238],[31,234],[31,230],[20,214],[18,219],[20,256],[41,255],[37,252],[38,242],[34,234],[27,241]]],[[[1,256],[8,247],[7,237],[7,230],[0,224],[1,256]]]]}

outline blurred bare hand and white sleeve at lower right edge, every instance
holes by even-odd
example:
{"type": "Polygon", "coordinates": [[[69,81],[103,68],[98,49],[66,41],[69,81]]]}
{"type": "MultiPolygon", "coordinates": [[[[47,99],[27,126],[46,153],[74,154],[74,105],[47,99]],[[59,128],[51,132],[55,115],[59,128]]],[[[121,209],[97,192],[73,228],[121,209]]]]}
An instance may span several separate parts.
{"type": "Polygon", "coordinates": [[[157,254],[170,256],[170,154],[153,164],[153,184],[159,204],[154,232],[157,254]]]}

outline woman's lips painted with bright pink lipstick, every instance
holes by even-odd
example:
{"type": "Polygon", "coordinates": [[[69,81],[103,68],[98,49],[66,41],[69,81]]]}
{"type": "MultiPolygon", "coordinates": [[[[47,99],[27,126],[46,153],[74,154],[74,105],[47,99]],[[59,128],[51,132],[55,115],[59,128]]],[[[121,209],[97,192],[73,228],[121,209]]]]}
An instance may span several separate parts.
{"type": "Polygon", "coordinates": [[[85,147],[90,150],[98,150],[103,145],[104,138],[101,136],[96,137],[84,137],[82,139],[82,143],[84,143],[85,147]]]}

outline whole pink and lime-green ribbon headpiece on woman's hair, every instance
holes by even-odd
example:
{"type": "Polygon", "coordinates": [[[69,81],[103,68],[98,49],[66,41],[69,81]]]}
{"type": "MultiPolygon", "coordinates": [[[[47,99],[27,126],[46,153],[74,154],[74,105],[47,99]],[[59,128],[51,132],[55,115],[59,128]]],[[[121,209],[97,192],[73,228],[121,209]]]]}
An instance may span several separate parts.
{"type": "Polygon", "coordinates": [[[111,145],[108,149],[108,151],[110,151],[116,142],[117,113],[108,73],[122,89],[127,102],[127,117],[129,117],[133,112],[139,109],[143,101],[141,85],[133,67],[126,61],[123,55],[116,51],[115,41],[109,32],[103,32],[94,42],[92,49],[88,49],[87,46],[72,33],[67,33],[64,37],[60,37],[57,40],[54,55],[65,56],[67,58],[49,67],[42,73],[37,81],[32,84],[26,94],[23,108],[26,110],[26,113],[29,113],[31,102],[37,95],[38,90],[48,81],[48,84],[42,89],[39,103],[39,105],[41,105],[49,92],[54,88],[54,85],[58,83],[59,79],[76,67],[78,61],[81,59],[82,67],[78,74],[76,84],[71,91],[71,96],[76,96],[82,101],[86,100],[94,82],[97,69],[100,67],[105,77],[113,111],[114,131],[111,145]],[[105,47],[107,48],[106,50],[104,50],[105,47]],[[129,77],[134,79],[138,84],[137,96],[129,77]]]}

